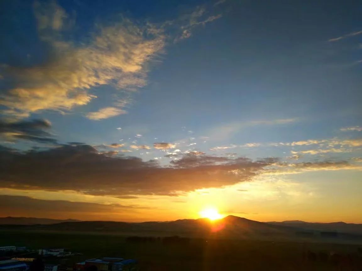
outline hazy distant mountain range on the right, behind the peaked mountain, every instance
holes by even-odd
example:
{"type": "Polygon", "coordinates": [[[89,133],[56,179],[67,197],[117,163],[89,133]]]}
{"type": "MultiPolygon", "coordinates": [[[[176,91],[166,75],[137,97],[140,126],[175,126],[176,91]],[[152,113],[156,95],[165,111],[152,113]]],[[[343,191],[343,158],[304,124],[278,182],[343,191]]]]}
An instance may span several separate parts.
{"type": "Polygon", "coordinates": [[[345,233],[362,234],[362,224],[353,224],[345,222],[311,223],[300,220],[287,220],[282,222],[271,221],[266,223],[270,225],[308,229],[311,231],[328,231],[328,232],[345,232],[345,233]]]}

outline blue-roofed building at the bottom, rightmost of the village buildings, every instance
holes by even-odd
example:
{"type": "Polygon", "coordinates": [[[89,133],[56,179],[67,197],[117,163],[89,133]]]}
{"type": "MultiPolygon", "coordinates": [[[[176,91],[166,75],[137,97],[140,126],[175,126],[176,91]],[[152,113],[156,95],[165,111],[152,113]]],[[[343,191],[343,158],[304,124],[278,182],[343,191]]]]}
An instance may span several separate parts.
{"type": "Polygon", "coordinates": [[[133,259],[125,260],[123,258],[104,257],[76,263],[74,269],[75,271],[84,271],[91,266],[95,266],[98,271],[123,271],[126,270],[126,267],[129,268],[136,263],[137,261],[133,259]]]}

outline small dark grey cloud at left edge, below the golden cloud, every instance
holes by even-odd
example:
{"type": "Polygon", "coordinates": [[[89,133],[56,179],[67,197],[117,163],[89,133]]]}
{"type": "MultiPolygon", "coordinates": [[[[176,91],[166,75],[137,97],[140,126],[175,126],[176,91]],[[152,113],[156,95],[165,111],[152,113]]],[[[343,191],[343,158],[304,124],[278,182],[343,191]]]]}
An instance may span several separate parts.
{"type": "Polygon", "coordinates": [[[56,143],[49,133],[51,123],[48,120],[29,120],[7,122],[0,119],[0,137],[10,142],[28,140],[39,143],[56,143]]]}

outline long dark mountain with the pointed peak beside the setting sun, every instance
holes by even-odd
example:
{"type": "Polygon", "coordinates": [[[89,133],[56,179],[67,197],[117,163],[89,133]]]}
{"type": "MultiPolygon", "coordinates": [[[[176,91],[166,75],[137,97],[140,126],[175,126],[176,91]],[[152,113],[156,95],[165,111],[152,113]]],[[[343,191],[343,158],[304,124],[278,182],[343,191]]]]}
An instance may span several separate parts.
{"type": "MultiPolygon", "coordinates": [[[[8,224],[8,223],[7,223],[8,224]]],[[[3,228],[14,226],[3,225],[3,228]]],[[[223,219],[180,219],[166,222],[128,223],[116,221],[78,221],[48,223],[47,225],[17,226],[27,230],[42,229],[51,231],[119,233],[139,236],[172,236],[185,237],[217,237],[217,238],[263,238],[269,236],[294,235],[294,229],[283,225],[272,225],[264,222],[227,216],[223,219]]]]}

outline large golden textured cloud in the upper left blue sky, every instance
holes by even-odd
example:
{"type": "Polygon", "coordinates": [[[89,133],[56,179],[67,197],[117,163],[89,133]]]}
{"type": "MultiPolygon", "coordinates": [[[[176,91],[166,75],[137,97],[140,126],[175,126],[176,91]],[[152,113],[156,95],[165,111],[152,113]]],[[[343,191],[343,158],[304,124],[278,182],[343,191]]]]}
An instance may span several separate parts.
{"type": "MultiPolygon", "coordinates": [[[[70,110],[97,98],[90,89],[113,85],[126,93],[146,85],[145,65],[164,48],[165,36],[151,23],[136,24],[123,18],[109,25],[97,25],[88,43],[63,38],[68,18],[55,1],[35,4],[41,40],[50,48],[43,63],[31,67],[4,66],[2,76],[12,82],[0,104],[18,117],[52,109],[70,110]]],[[[68,29],[69,31],[71,29],[68,29]]],[[[121,94],[121,92],[120,92],[121,94]]],[[[90,112],[92,120],[125,113],[123,100],[114,107],[90,112]]],[[[7,113],[9,111],[3,111],[7,113]]]]}

